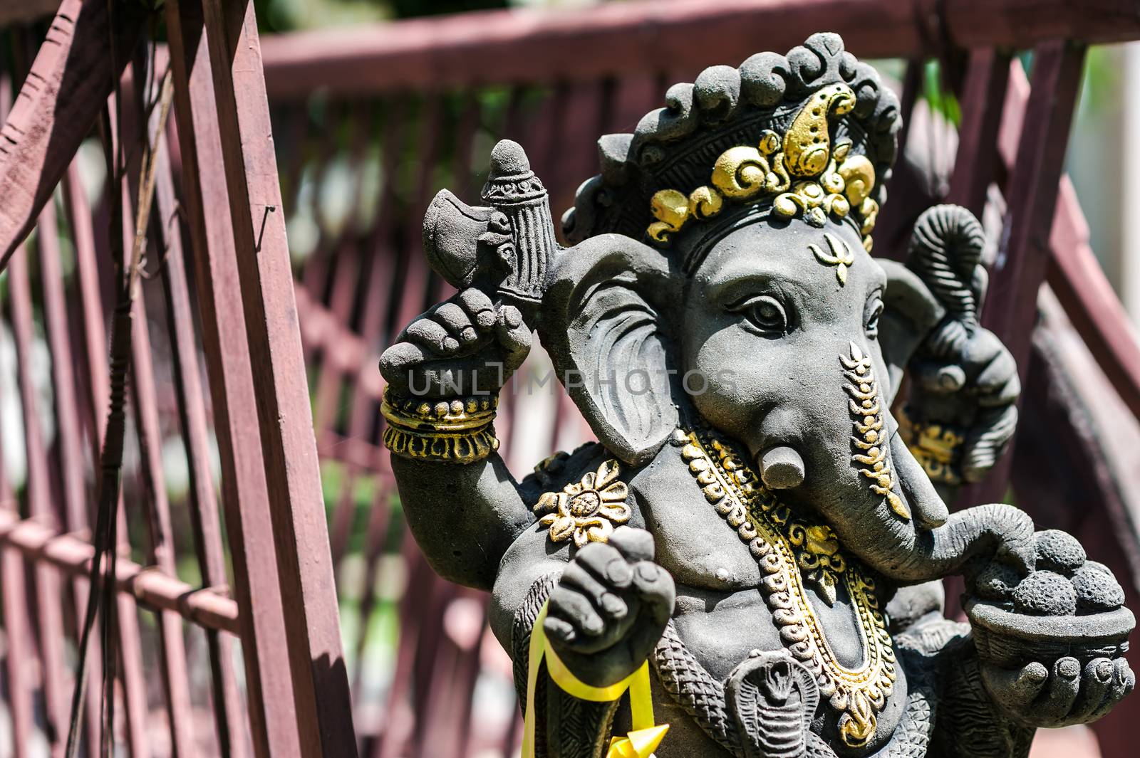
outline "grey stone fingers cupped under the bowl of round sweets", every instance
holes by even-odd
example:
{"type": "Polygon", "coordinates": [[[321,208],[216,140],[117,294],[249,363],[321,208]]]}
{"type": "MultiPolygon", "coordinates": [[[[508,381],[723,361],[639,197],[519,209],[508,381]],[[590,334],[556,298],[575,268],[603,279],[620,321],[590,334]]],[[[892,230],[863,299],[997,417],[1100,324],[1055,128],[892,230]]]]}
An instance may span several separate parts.
{"type": "Polygon", "coordinates": [[[1094,722],[1132,692],[1137,682],[1124,658],[1094,658],[1082,668],[1068,657],[1051,668],[1037,661],[1012,670],[983,662],[982,679],[1010,718],[1034,727],[1094,722]]]}

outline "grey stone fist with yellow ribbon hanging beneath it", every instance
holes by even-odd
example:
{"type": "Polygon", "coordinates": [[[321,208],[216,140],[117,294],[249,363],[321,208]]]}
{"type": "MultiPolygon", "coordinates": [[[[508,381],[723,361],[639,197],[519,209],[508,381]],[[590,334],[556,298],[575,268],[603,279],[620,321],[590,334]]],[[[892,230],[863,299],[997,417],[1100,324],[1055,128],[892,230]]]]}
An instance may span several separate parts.
{"type": "Polygon", "coordinates": [[[544,631],[575,676],[606,686],[633,674],[673,613],[673,577],[653,562],[653,537],[619,527],[578,551],[551,593],[544,631]]]}

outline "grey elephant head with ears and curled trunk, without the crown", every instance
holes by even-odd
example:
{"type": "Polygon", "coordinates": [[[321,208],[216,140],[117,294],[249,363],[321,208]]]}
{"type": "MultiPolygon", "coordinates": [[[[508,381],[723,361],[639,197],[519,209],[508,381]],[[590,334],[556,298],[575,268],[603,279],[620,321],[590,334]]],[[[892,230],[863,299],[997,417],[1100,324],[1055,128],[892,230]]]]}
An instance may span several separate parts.
{"type": "Polygon", "coordinates": [[[784,502],[819,512],[897,582],[994,552],[1028,569],[1028,517],[1005,505],[951,517],[899,438],[901,368],[948,312],[922,273],[871,257],[853,224],[752,206],[670,255],[612,233],[561,252],[539,333],[628,464],[651,460],[678,423],[707,423],[784,502]]]}

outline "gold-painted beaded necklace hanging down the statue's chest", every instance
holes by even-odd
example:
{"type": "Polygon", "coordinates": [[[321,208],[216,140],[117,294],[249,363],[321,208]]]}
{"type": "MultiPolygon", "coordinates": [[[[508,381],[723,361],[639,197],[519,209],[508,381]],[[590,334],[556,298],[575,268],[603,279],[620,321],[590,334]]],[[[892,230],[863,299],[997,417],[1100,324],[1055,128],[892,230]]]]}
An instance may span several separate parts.
{"type": "Polygon", "coordinates": [[[853,748],[865,745],[897,676],[874,579],[844,557],[830,527],[808,524],[777,501],[760,484],[747,458],[706,431],[678,432],[682,458],[706,500],[736,530],[764,574],[760,591],[780,628],[781,642],[812,670],[820,692],[839,711],[842,741],[853,748]],[[844,583],[865,651],[857,668],[836,658],[805,582],[814,584],[829,604],[834,602],[838,583],[844,583]]]}

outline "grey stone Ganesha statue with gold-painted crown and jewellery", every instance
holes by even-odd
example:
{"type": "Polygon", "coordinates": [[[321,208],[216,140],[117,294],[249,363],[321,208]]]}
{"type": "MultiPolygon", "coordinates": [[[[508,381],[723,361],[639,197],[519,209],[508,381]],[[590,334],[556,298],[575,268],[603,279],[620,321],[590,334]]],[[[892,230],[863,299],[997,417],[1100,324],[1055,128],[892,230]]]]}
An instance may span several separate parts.
{"type": "Polygon", "coordinates": [[[404,511],[491,593],[524,756],[996,758],[1104,716],[1135,683],[1112,572],[1011,505],[946,506],[1020,385],[968,211],[871,255],[895,94],[814,34],[666,104],[601,138],[570,247],[514,142],[482,205],[440,192],[424,248],[458,291],[381,360],[404,511]],[[534,331],[597,440],[516,481],[494,420],[534,331]]]}

